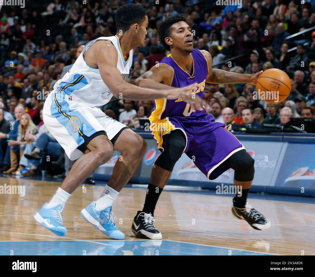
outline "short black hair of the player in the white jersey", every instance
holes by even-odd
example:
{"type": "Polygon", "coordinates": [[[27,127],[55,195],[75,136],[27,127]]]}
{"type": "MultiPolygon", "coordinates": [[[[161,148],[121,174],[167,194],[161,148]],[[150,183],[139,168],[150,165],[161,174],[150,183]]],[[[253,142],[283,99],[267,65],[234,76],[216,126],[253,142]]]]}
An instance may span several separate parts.
{"type": "Polygon", "coordinates": [[[146,19],[146,10],[140,4],[128,3],[117,9],[116,30],[126,32],[133,24],[141,24],[146,19]]]}

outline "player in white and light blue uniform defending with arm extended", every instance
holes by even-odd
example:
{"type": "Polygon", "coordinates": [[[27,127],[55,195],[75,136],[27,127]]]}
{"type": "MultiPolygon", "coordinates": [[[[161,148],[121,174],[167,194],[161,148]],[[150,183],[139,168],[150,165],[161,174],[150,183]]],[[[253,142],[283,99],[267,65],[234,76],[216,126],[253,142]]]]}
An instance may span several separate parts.
{"type": "Polygon", "coordinates": [[[141,136],[127,126],[106,116],[98,106],[114,95],[125,100],[177,99],[202,109],[202,102],[193,98],[197,84],[185,88],[154,90],[131,85],[125,80],[132,65],[133,48],[141,46],[146,36],[148,17],[138,4],[126,4],[115,15],[117,35],[100,37],[85,45],[72,68],[58,80],[43,108],[43,121],[49,132],[74,160],[71,171],[49,203],[34,218],[57,235],[66,235],[61,213],[71,193],[117,150],[117,161],[104,191],[81,215],[102,233],[124,239],[117,229],[112,203],[128,183],[146,151],[141,136]]]}

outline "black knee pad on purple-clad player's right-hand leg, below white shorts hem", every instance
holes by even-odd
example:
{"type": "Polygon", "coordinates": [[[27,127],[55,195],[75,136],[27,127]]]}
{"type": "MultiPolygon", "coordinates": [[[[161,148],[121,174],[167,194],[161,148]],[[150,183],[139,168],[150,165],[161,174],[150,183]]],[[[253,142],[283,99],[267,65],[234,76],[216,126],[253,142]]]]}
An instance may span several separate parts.
{"type": "Polygon", "coordinates": [[[234,153],[229,159],[229,165],[234,169],[234,178],[239,182],[248,182],[254,179],[255,160],[250,157],[245,149],[234,153]]]}

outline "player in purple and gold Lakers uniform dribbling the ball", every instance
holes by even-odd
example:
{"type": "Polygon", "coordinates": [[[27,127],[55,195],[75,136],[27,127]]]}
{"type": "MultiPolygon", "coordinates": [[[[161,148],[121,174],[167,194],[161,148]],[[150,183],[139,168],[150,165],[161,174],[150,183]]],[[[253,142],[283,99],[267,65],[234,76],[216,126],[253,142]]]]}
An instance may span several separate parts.
{"type": "MultiPolygon", "coordinates": [[[[195,82],[198,85],[191,92],[203,99],[206,82],[256,85],[262,71],[249,75],[212,69],[211,55],[205,50],[193,49],[192,30],[185,20],[182,14],[176,14],[160,23],[160,41],[171,54],[136,80],[140,87],[163,90],[168,86],[176,88],[195,82]]],[[[153,224],[154,209],[183,152],[192,158],[198,169],[210,180],[216,179],[227,169],[234,169],[238,195],[233,198],[232,215],[246,220],[256,230],[270,227],[268,219],[246,202],[254,178],[254,159],[238,139],[224,129],[224,124],[215,122],[213,115],[206,114],[205,109],[192,109],[181,98],[156,99],[150,121],[152,135],[162,153],[153,166],[144,208],[134,218],[131,235],[138,238],[162,238],[153,224]],[[239,193],[239,189],[242,193],[239,193]]]]}

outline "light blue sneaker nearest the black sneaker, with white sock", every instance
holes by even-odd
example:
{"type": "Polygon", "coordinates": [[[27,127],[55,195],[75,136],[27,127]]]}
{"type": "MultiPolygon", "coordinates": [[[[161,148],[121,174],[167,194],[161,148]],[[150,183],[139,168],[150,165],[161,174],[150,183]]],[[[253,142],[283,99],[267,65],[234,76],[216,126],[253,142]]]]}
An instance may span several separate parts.
{"type": "Polygon", "coordinates": [[[95,209],[95,201],[93,201],[81,211],[81,215],[103,234],[116,240],[123,240],[125,238],[124,233],[119,231],[115,225],[117,218],[112,212],[112,206],[108,206],[103,211],[98,211],[95,209]]]}

